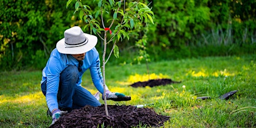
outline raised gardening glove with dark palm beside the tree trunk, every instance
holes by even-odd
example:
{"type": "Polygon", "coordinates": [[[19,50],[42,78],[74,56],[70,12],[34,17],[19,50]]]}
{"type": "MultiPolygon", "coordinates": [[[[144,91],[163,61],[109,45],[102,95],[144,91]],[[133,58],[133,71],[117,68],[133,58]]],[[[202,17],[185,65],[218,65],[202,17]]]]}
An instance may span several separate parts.
{"type": "MultiPolygon", "coordinates": [[[[125,96],[122,93],[111,92],[109,90],[106,90],[106,99],[107,100],[113,100],[113,101],[129,101],[129,100],[131,100],[131,97],[125,96]]],[[[103,95],[102,95],[102,100],[104,100],[103,95]]]]}

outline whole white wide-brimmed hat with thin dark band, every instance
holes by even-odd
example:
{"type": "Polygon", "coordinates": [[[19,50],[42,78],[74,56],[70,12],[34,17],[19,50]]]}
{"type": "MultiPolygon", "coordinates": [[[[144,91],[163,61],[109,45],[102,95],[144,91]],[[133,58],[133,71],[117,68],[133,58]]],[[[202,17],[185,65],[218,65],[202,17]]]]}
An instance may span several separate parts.
{"type": "Polygon", "coordinates": [[[97,37],[83,33],[78,26],[71,27],[64,32],[64,38],[57,42],[58,52],[77,55],[90,51],[97,44],[97,37]]]}

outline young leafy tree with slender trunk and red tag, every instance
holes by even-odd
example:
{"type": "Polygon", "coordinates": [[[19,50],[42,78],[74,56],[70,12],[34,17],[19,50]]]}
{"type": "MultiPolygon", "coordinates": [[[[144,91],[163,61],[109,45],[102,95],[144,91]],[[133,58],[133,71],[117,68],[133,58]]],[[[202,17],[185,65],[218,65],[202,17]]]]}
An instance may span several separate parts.
{"type": "MultiPolygon", "coordinates": [[[[69,0],[66,7],[74,0],[69,0]]],[[[94,1],[95,2],[95,1],[94,1]]],[[[83,28],[90,28],[91,34],[98,35],[102,41],[104,41],[104,53],[102,56],[103,67],[103,80],[104,80],[104,102],[106,115],[109,116],[107,111],[106,102],[106,78],[105,78],[105,66],[109,60],[112,52],[115,57],[119,57],[119,48],[117,42],[122,41],[124,38],[129,40],[129,33],[127,31],[132,29],[140,29],[147,23],[154,23],[154,13],[151,9],[141,2],[129,2],[126,6],[126,1],[121,0],[115,2],[114,0],[100,0],[98,2],[98,9],[92,11],[90,6],[77,0],[75,3],[75,12],[79,13],[81,20],[85,21],[83,28]],[[109,19],[104,19],[103,15],[109,14],[109,19]],[[98,21],[97,18],[100,20],[98,21]],[[110,35],[108,35],[108,32],[110,35]],[[102,36],[101,33],[104,33],[102,36]],[[107,45],[112,42],[112,49],[107,60],[106,50],[107,45]]]]}

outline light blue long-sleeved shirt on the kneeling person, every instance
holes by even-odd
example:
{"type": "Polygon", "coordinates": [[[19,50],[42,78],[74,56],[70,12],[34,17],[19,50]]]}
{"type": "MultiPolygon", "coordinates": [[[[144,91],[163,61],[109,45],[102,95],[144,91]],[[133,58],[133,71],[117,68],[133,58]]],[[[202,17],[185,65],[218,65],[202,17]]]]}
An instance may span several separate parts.
{"type": "MultiPolygon", "coordinates": [[[[58,108],[57,93],[60,83],[60,74],[69,65],[78,67],[78,61],[76,58],[72,55],[60,53],[55,48],[51,53],[46,67],[43,68],[41,83],[47,80],[46,102],[50,111],[58,108]]],[[[103,78],[100,69],[100,58],[95,47],[86,52],[85,59],[83,60],[82,71],[79,73],[79,80],[76,83],[77,86],[81,86],[82,75],[88,68],[90,69],[93,84],[97,90],[103,93],[103,78]]]]}

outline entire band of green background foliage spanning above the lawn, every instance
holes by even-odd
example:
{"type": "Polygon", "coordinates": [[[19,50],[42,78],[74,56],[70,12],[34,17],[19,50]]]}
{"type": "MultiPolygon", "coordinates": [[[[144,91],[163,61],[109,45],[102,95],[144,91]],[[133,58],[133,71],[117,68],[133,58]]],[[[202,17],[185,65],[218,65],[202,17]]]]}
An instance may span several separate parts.
{"type": "MultiPolygon", "coordinates": [[[[99,6],[104,5],[99,1],[82,3],[89,6],[92,11],[97,10],[85,17],[79,9],[73,15],[73,8],[80,5],[79,3],[76,4],[75,1],[73,3],[70,1],[70,5],[73,6],[67,8],[67,1],[3,0],[0,3],[2,7],[0,8],[1,71],[43,68],[57,41],[63,38],[65,29],[75,25],[85,26],[88,23],[82,21],[85,18],[91,19],[91,16],[95,22],[99,22],[101,17],[99,6]]],[[[103,17],[110,19],[105,21],[106,26],[109,26],[111,17],[121,20],[120,16],[123,12],[110,13],[114,1],[106,2],[110,7],[104,7],[103,17]]],[[[128,2],[132,1],[127,0],[126,3],[128,2]]],[[[124,42],[120,43],[118,48],[120,53],[126,50],[131,52],[126,51],[127,55],[120,57],[119,62],[127,62],[130,59],[127,57],[137,54],[139,50],[134,47],[134,42],[140,43],[141,38],[145,38],[144,35],[147,37],[145,47],[147,47],[147,53],[152,61],[199,56],[203,53],[204,56],[219,56],[239,53],[237,51],[244,51],[245,53],[247,51],[254,53],[253,51],[255,51],[256,2],[254,0],[148,0],[140,2],[147,3],[152,8],[155,15],[154,24],[148,24],[147,28],[136,28],[141,29],[139,32],[130,31],[130,28],[127,27],[125,32],[128,34],[118,37],[120,42],[124,42]],[[144,28],[147,29],[146,32],[144,28]],[[130,36],[130,33],[133,36],[130,36]],[[129,37],[129,41],[127,37],[129,37]],[[229,43],[225,43],[227,41],[229,43]],[[200,45],[209,48],[196,49],[191,47],[199,47],[200,45]],[[216,45],[221,46],[216,47],[216,45]],[[244,50],[239,49],[243,47],[244,50]],[[204,52],[201,53],[201,50],[204,52]]],[[[118,4],[115,1],[115,5],[118,6],[118,4]]],[[[85,11],[86,8],[89,9],[85,7],[85,11]]],[[[143,18],[145,19],[145,17],[143,18]]],[[[147,17],[147,20],[150,18],[147,17]]],[[[131,20],[126,23],[133,29],[136,27],[136,21],[131,20]]],[[[100,36],[103,35],[104,29],[98,29],[99,26],[96,25],[89,27],[89,25],[90,23],[85,31],[98,32],[100,36]]],[[[113,33],[116,32],[115,28],[110,29],[113,33]]],[[[97,36],[99,37],[99,35],[97,36]]],[[[110,37],[111,35],[107,36],[110,37]]],[[[100,44],[102,45],[96,47],[103,47],[103,43],[100,44]]],[[[117,56],[117,54],[115,55],[117,56]]],[[[133,58],[130,61],[134,61],[133,58]]]]}

